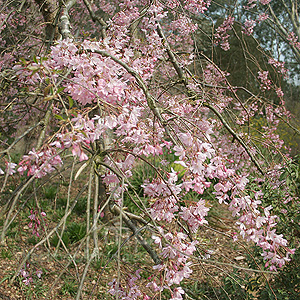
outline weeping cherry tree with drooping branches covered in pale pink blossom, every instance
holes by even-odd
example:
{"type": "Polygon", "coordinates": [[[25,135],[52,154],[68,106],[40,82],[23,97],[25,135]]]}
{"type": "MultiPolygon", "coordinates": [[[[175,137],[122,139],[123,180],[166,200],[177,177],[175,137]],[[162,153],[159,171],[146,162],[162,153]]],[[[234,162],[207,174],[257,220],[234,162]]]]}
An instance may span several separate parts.
{"type": "MultiPolygon", "coordinates": [[[[280,27],[270,2],[247,5],[270,14],[298,57],[297,31],[280,27]]],[[[231,84],[231,75],[211,54],[214,47],[224,53],[230,49],[236,22],[230,11],[214,28],[210,0],[2,4],[1,191],[12,178],[20,181],[1,211],[2,242],[22,209],[22,194],[69,170],[65,214],[46,228],[47,212],[36,201],[29,227],[39,241],[12,280],[21,274],[29,284],[24,265],[32,253],[47,247],[55,234],[63,243],[66,220],[84,191],[87,233],[80,246],[85,243],[87,263],[76,299],[99,256],[97,230],[109,214],[120,224],[117,271],[108,288],[117,299],[155,299],[164,291],[170,299],[183,299],[181,283],[195,266],[218,265],[199,242],[203,228],[212,229],[212,207],[232,216],[236,231],[224,233],[227,238],[261,248],[264,268],[276,271],[290,260],[294,249],[276,229],[279,218],[266,201],[270,187],[285,205],[298,201],[283,176],[291,162],[289,148],[277,133],[279,124],[292,118],[280,86],[288,71],[268,53],[251,74],[253,89],[231,84]],[[205,34],[211,53],[197,47],[201,23],[209,22],[211,31],[205,34]],[[270,76],[267,64],[280,80],[270,76]],[[30,135],[36,138],[16,161],[18,143],[30,135]],[[139,168],[151,171],[135,186],[132,178],[139,168]],[[85,184],[72,200],[80,177],[85,184]],[[126,209],[125,200],[138,213],[126,209]],[[121,272],[122,224],[153,260],[145,285],[140,269],[121,272]]],[[[293,5],[286,7],[296,26],[293,5]]],[[[245,41],[254,25],[267,19],[265,13],[246,19],[241,25],[245,41]]]]}

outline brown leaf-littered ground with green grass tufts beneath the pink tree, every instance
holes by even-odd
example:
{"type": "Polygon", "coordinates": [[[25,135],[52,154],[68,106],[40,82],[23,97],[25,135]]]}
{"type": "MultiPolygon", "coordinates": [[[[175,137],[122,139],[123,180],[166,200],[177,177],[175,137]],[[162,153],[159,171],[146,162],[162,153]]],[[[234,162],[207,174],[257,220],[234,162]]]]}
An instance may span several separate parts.
{"type": "MultiPolygon", "coordinates": [[[[76,188],[72,189],[72,199],[82,186],[83,183],[78,183],[76,188]]],[[[6,194],[4,193],[7,199],[12,190],[8,185],[6,194]]],[[[33,228],[29,228],[31,208],[36,207],[36,199],[39,199],[39,206],[47,212],[45,223],[47,224],[46,232],[49,232],[64,215],[67,184],[60,185],[59,189],[53,184],[42,187],[36,199],[32,199],[32,191],[26,193],[29,196],[27,198],[24,196],[22,199],[25,200],[20,201],[17,208],[22,209],[12,222],[6,241],[0,245],[0,299],[75,299],[79,282],[87,265],[86,242],[82,240],[86,230],[86,193],[78,199],[74,212],[67,220],[66,235],[62,236],[65,247],[61,246],[56,249],[58,237],[54,234],[49,242],[34,251],[27,261],[28,265],[23,266],[23,269],[26,269],[33,278],[33,282],[28,285],[24,282],[26,278],[21,274],[14,282],[10,282],[10,279],[16,273],[26,253],[45,234],[42,230],[40,230],[40,237],[32,234],[33,228]],[[41,278],[37,277],[37,270],[42,271],[41,278]]],[[[1,203],[2,207],[4,204],[4,202],[1,203]]],[[[115,253],[118,244],[119,220],[117,217],[107,215],[102,222],[106,222],[106,225],[102,226],[104,224],[101,222],[99,225],[99,255],[89,265],[82,288],[82,299],[114,299],[108,294],[108,283],[116,278],[115,253]]],[[[254,274],[243,269],[248,268],[247,249],[243,247],[243,244],[233,242],[232,233],[235,229],[227,209],[222,206],[218,210],[212,209],[209,224],[212,228],[202,227],[198,233],[198,246],[203,260],[193,261],[194,272],[191,278],[183,284],[187,293],[194,299],[207,299],[206,290],[219,288],[223,284],[224,277],[233,275],[234,269],[234,276],[243,277],[245,274],[248,276],[254,274]],[[216,263],[217,261],[221,264],[216,263]],[[201,298],[201,293],[203,293],[203,298],[201,298]]],[[[3,225],[3,220],[0,225],[3,225]]],[[[126,242],[121,249],[121,276],[142,269],[141,286],[145,288],[147,278],[153,274],[153,261],[136,239],[130,238],[132,233],[128,228],[124,226],[122,232],[122,243],[126,242]]],[[[151,235],[150,230],[143,231],[143,236],[149,243],[152,243],[151,235]]],[[[89,248],[91,254],[94,249],[92,236],[89,248]]],[[[163,294],[161,299],[169,298],[167,294],[163,294]]]]}

